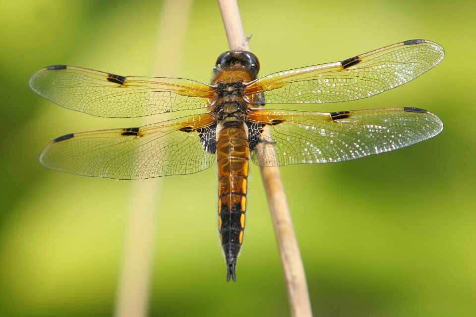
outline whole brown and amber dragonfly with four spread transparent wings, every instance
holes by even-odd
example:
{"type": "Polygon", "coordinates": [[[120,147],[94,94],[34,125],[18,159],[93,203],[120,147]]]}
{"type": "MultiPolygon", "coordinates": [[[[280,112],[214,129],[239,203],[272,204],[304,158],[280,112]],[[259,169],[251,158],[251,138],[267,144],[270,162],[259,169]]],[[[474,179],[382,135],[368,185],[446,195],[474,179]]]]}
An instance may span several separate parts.
{"type": "Polygon", "coordinates": [[[436,115],[411,106],[314,112],[265,105],[308,107],[371,97],[415,79],[444,55],[437,43],[409,40],[258,77],[258,58],[234,50],[218,57],[210,84],[49,66],[32,75],[31,89],[72,110],[112,118],[200,113],[140,127],[69,133],[51,141],[39,160],[53,170],[114,179],[191,174],[216,161],[218,229],[227,281],[236,281],[250,159],[259,166],[340,162],[400,149],[443,129],[436,115]]]}

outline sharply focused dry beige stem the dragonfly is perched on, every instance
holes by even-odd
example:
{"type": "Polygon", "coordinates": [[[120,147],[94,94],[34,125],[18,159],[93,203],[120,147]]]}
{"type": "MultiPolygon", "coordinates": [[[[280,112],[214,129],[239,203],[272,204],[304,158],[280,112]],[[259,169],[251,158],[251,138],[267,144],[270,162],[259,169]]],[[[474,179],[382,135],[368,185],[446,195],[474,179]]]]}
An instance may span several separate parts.
{"type": "MultiPolygon", "coordinates": [[[[241,48],[249,50],[249,45],[245,41],[243,27],[241,26],[237,1],[218,0],[218,4],[222,13],[223,23],[225,24],[230,49],[236,50],[241,48]]],[[[262,143],[261,146],[265,147],[265,149],[258,151],[258,153],[266,153],[267,155],[274,153],[269,144],[267,146],[265,143],[262,143]]],[[[312,316],[304,266],[302,265],[279,168],[263,166],[260,168],[278,240],[292,315],[295,317],[312,316]]]]}

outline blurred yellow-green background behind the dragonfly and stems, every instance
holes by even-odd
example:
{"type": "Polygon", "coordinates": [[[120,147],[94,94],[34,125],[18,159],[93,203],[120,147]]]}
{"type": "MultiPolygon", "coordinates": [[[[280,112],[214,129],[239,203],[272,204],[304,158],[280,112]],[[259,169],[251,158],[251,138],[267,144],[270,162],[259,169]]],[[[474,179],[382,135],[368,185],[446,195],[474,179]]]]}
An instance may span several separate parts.
{"type": "MultiPolygon", "coordinates": [[[[51,64],[170,75],[151,73],[162,2],[0,3],[0,316],[110,316],[136,183],[54,172],[37,158],[60,135],[138,120],[66,110],[31,92],[28,79],[51,64]]],[[[476,316],[475,2],[239,6],[262,75],[409,39],[445,48],[440,65],[398,89],[293,107],[421,107],[443,120],[440,135],[365,159],[281,171],[315,316],[476,316]]],[[[227,48],[216,2],[195,1],[174,75],[208,82],[227,48]]],[[[216,170],[160,179],[150,316],[289,316],[259,169],[250,174],[237,283],[225,282],[216,170]]]]}

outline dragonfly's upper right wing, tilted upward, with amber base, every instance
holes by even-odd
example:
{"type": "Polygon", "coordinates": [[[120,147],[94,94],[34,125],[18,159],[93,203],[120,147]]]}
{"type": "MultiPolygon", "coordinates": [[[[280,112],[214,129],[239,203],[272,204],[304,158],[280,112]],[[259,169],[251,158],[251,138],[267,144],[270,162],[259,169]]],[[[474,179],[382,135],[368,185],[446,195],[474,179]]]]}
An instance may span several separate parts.
{"type": "Polygon", "coordinates": [[[246,94],[264,92],[267,104],[356,100],[415,79],[444,55],[436,43],[410,40],[343,61],[273,73],[250,82],[246,94]]]}

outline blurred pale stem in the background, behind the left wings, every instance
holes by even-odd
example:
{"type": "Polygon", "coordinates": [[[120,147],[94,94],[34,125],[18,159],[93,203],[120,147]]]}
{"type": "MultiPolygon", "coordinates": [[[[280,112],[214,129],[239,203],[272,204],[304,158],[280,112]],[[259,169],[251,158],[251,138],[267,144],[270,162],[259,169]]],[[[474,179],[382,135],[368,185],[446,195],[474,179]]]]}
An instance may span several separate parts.
{"type": "MultiPolygon", "coordinates": [[[[191,0],[166,0],[159,17],[155,67],[151,75],[176,76],[183,52],[191,0]],[[173,29],[174,32],[170,32],[173,29]]],[[[161,119],[165,119],[164,116],[161,119]]],[[[157,118],[150,120],[157,121],[157,118]]],[[[152,123],[146,119],[143,124],[152,123]]],[[[124,253],[119,277],[116,317],[148,316],[160,180],[133,181],[124,253]]]]}

